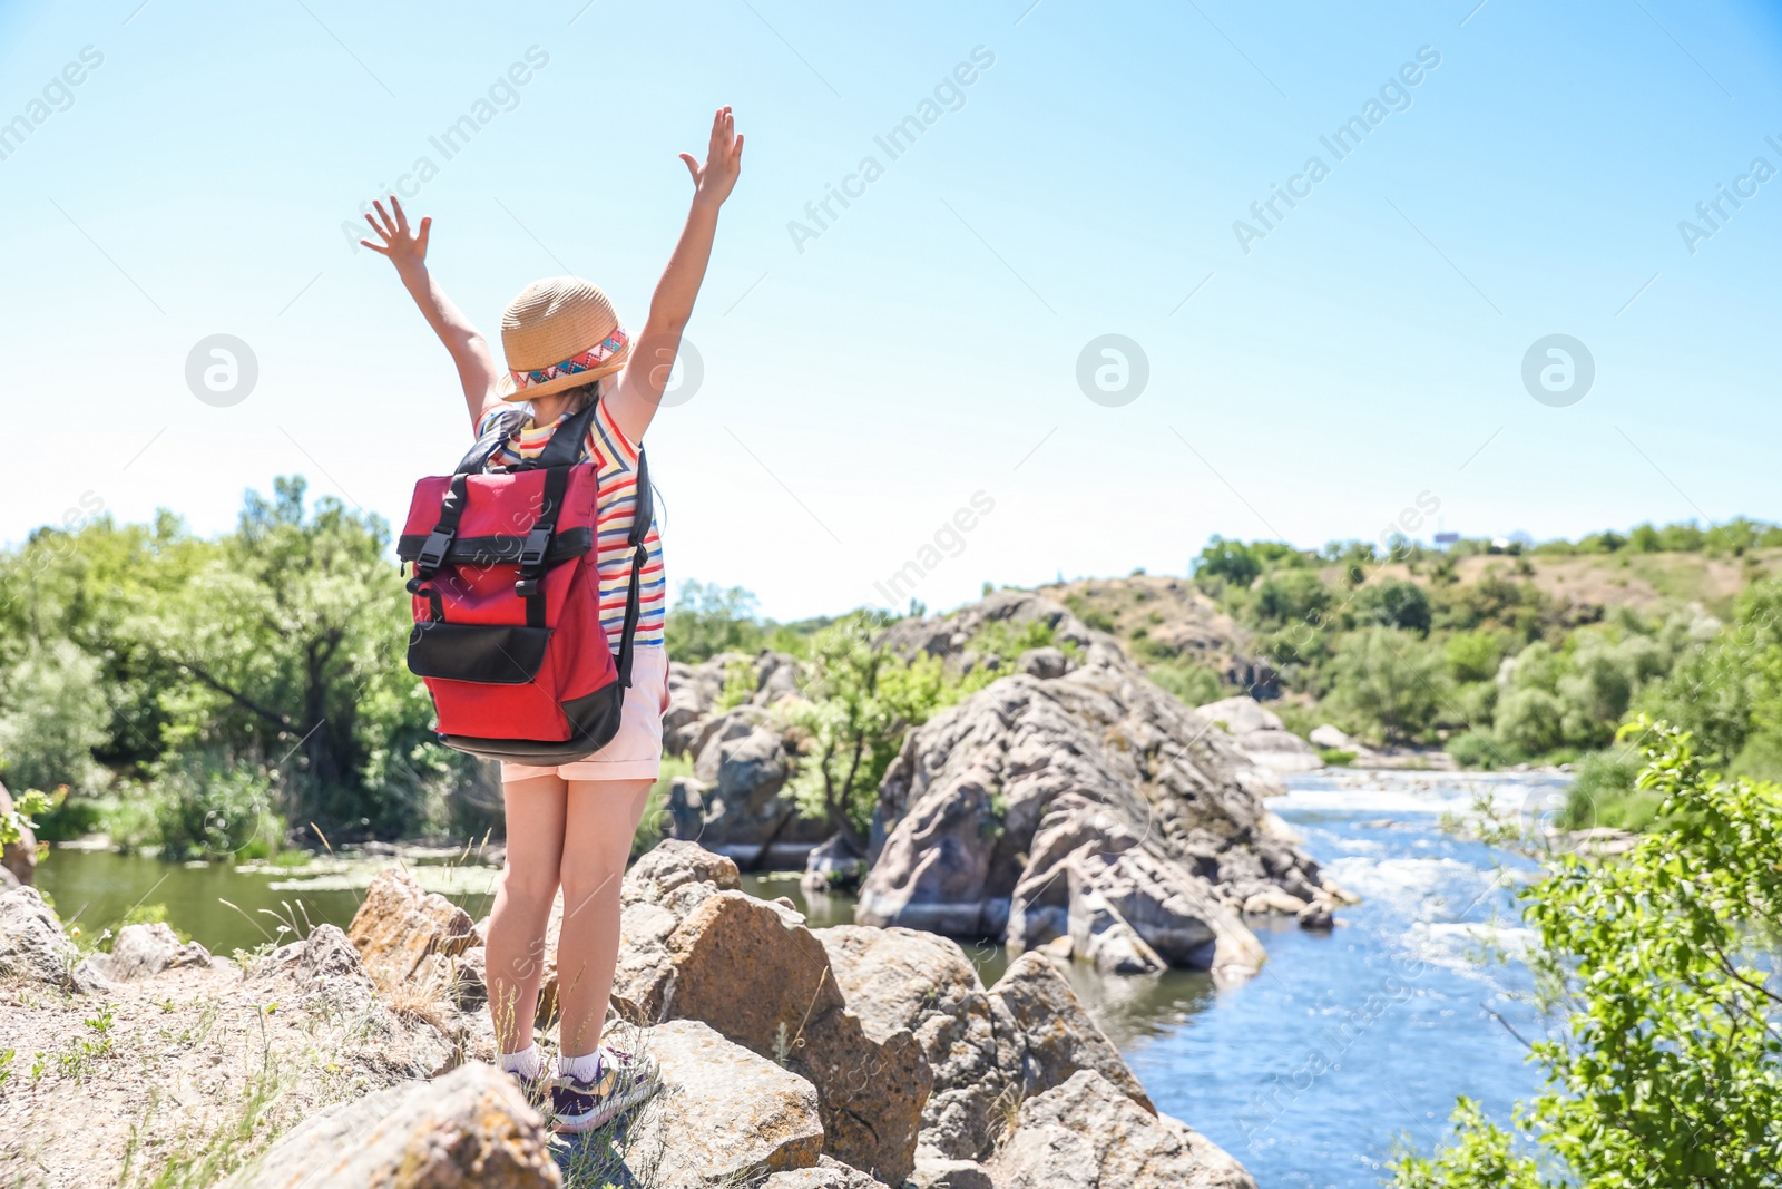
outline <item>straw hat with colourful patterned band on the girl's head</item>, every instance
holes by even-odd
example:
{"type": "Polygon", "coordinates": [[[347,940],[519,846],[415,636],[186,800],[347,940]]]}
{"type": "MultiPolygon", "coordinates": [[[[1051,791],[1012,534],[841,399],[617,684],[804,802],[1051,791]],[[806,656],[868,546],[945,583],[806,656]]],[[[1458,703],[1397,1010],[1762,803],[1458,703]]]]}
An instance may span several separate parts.
{"type": "Polygon", "coordinates": [[[599,285],[579,276],[533,282],[501,316],[504,401],[529,401],[611,376],[631,358],[631,335],[599,285]]]}

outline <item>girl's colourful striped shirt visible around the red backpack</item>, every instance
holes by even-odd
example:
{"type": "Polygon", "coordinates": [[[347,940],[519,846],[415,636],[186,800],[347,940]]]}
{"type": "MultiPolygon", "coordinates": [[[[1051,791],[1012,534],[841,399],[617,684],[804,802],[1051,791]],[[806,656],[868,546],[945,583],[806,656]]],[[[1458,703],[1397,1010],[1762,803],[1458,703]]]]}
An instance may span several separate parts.
{"type": "MultiPolygon", "coordinates": [[[[492,469],[511,467],[527,458],[536,458],[551,433],[561,419],[535,426],[531,415],[515,406],[492,408],[478,424],[481,437],[497,417],[520,412],[526,417],[520,428],[508,439],[506,446],[488,460],[492,469]]],[[[567,417],[568,414],[565,414],[567,417]]],[[[625,631],[625,594],[631,590],[631,545],[625,538],[638,512],[638,447],[625,439],[624,430],[606,412],[606,401],[593,412],[588,426],[588,440],[583,446],[583,462],[593,462],[599,476],[595,488],[595,508],[599,513],[599,542],[595,544],[595,565],[601,570],[601,627],[606,629],[606,642],[618,654],[618,645],[625,631]]],[[[663,617],[668,610],[668,581],[663,570],[663,542],[658,531],[656,508],[650,501],[650,531],[643,537],[649,560],[638,585],[638,631],[633,640],[642,645],[661,647],[663,617]]]]}

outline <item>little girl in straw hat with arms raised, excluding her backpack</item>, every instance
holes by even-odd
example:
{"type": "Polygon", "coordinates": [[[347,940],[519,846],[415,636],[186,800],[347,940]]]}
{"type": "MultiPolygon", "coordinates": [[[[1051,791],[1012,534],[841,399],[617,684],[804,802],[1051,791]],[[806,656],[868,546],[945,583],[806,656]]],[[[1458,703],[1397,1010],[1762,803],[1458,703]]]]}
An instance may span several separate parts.
{"type": "MultiPolygon", "coordinates": [[[[613,652],[624,627],[631,578],[625,542],[636,512],[636,463],[643,433],[706,276],[718,207],[741,171],[743,137],[731,109],[711,121],[706,164],[681,153],[693,175],[693,205],[668,267],[656,285],[643,333],[633,339],[606,294],[579,278],[533,282],[501,316],[508,367],[495,371],[483,335],[428,275],[431,219],[410,230],[403,205],[376,203],[365,216],[381,242],[364,242],[396,264],[408,294],[451,351],[478,437],[511,419],[508,444],[490,465],[535,458],[552,430],[590,401],[599,406],[583,458],[599,472],[601,620],[613,652]]],[[[624,722],[611,743],[586,759],[554,768],[501,765],[508,859],[488,918],[488,1007],[495,1021],[499,1064],[515,1075],[533,1102],[549,1091],[558,1130],[601,1127],[656,1089],[654,1062],[601,1043],[613,966],[618,961],[618,882],[631,838],[661,765],[661,715],[668,704],[668,658],[663,651],[661,540],[656,524],[645,538],[642,617],[634,636],[631,688],[624,722]],[[558,1004],[561,1037],[556,1077],[533,1043],[538,986],[544,975],[545,923],[563,891],[558,941],[558,1004]]]]}

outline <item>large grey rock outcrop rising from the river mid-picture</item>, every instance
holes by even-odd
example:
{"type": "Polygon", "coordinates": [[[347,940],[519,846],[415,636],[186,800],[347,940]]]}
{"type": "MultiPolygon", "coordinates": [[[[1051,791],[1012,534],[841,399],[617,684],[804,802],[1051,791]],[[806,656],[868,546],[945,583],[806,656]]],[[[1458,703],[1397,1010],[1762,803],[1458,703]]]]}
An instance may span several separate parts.
{"type": "Polygon", "coordinates": [[[1344,893],[1262,804],[1278,777],[1153,685],[1107,633],[1001,592],[891,645],[953,663],[987,622],[1042,620],[1069,649],[911,731],[879,790],[855,920],[1075,954],[1103,972],[1255,973],[1246,913],[1328,927],[1344,893]]]}

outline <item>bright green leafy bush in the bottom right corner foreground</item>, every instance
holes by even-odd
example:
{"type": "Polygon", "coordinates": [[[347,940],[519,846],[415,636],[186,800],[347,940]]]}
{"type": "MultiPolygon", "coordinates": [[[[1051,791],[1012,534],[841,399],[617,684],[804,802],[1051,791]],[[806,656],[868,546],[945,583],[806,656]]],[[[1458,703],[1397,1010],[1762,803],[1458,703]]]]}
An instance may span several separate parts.
{"type": "Polygon", "coordinates": [[[1406,1189],[1775,1189],[1782,1169],[1782,788],[1707,770],[1686,731],[1641,718],[1639,786],[1661,825],[1629,854],[1549,861],[1520,895],[1554,1016],[1543,1089],[1515,1127],[1461,1102],[1456,1141],[1402,1153],[1406,1189]],[[1493,1177],[1500,1180],[1492,1180],[1493,1177]]]}

